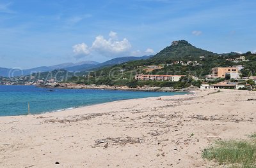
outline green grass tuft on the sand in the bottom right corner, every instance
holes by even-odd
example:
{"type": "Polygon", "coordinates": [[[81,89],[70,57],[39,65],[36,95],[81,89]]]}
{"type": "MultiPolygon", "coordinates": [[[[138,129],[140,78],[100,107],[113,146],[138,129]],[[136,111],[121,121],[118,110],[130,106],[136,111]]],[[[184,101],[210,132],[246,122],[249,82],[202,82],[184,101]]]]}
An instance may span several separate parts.
{"type": "Polygon", "coordinates": [[[216,141],[203,151],[202,157],[232,168],[255,168],[256,143],[249,140],[216,141]]]}

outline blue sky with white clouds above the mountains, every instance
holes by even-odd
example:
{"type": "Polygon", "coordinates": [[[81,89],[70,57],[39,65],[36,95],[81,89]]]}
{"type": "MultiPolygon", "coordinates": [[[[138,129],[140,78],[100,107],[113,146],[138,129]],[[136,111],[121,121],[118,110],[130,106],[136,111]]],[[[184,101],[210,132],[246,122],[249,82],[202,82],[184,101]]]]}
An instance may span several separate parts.
{"type": "Polygon", "coordinates": [[[0,67],[154,55],[185,39],[256,52],[255,0],[0,0],[0,67]]]}

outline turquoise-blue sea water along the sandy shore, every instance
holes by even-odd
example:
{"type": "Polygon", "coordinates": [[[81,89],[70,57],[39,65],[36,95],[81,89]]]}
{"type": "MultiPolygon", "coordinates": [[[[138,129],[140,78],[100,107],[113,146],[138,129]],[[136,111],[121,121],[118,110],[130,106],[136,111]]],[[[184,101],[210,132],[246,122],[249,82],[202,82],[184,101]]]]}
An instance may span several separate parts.
{"type": "Polygon", "coordinates": [[[0,116],[60,111],[103,102],[186,94],[185,92],[130,92],[120,90],[49,89],[35,86],[0,85],[0,116]]]}

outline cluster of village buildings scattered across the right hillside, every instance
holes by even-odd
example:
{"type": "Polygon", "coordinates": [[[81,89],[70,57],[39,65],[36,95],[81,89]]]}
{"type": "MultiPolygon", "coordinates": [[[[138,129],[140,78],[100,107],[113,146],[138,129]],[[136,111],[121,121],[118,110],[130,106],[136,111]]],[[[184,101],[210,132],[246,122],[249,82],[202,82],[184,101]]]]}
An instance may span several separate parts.
{"type": "MultiPolygon", "coordinates": [[[[204,56],[200,56],[200,59],[204,58],[204,56]]],[[[231,61],[231,60],[230,60],[231,61]]],[[[244,56],[241,56],[235,60],[234,62],[242,62],[248,61],[244,56]]],[[[193,66],[200,66],[196,61],[176,61],[173,64],[182,64],[183,66],[192,64],[193,66]]],[[[172,66],[173,64],[167,64],[166,66],[172,66]]],[[[155,69],[161,69],[162,66],[148,66],[147,69],[144,69],[147,73],[150,71],[154,71],[155,69]]],[[[196,76],[191,76],[193,80],[201,80],[202,85],[201,89],[239,89],[239,90],[255,90],[256,84],[256,76],[243,77],[241,78],[241,70],[243,69],[243,65],[237,65],[232,67],[213,67],[211,69],[211,74],[206,75],[205,79],[198,79],[196,76]],[[219,80],[219,82],[214,83],[214,81],[219,80]],[[247,81],[251,81],[248,83],[247,81]]],[[[135,80],[157,80],[157,81],[179,81],[182,76],[186,75],[154,75],[154,74],[136,74],[135,80]]]]}

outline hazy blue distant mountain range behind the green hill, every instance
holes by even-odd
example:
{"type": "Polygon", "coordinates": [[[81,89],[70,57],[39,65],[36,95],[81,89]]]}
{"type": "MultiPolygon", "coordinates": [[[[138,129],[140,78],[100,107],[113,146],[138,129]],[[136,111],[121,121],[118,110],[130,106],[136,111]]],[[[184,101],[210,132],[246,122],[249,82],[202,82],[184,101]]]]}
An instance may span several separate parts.
{"type": "Polygon", "coordinates": [[[21,76],[21,75],[28,75],[33,73],[40,73],[40,72],[48,72],[53,71],[54,69],[65,69],[69,72],[74,71],[88,71],[90,69],[95,69],[99,67],[106,67],[106,66],[113,66],[116,64],[122,64],[124,62],[128,62],[130,60],[141,60],[141,59],[148,59],[151,56],[142,56],[142,57],[119,57],[115,59],[108,60],[103,63],[95,62],[95,61],[83,61],[77,63],[64,63],[58,64],[54,66],[41,66],[35,67],[31,69],[10,69],[10,68],[3,68],[0,67],[0,76],[9,77],[9,76],[21,76]]]}

